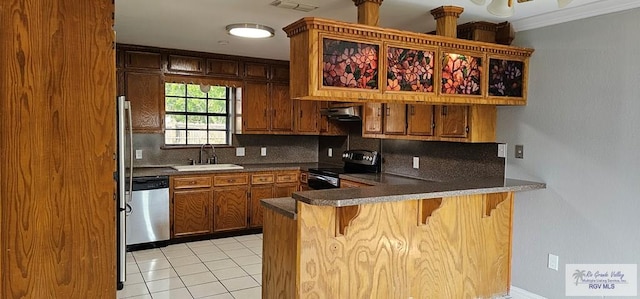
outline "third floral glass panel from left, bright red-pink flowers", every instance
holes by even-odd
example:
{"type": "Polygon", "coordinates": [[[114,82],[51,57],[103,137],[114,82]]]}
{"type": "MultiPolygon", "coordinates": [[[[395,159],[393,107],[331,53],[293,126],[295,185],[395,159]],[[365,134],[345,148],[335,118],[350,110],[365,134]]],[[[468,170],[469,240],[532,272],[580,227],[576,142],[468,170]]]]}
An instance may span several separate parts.
{"type": "Polygon", "coordinates": [[[480,95],[482,58],[444,53],[442,93],[480,95]]]}

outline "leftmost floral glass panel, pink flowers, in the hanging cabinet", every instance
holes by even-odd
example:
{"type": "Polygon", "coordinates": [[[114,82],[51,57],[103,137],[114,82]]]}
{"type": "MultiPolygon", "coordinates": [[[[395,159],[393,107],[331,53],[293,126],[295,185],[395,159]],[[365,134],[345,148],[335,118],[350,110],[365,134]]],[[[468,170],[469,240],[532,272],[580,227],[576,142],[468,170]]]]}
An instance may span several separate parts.
{"type": "Polygon", "coordinates": [[[325,38],[322,85],[378,89],[378,45],[325,38]]]}

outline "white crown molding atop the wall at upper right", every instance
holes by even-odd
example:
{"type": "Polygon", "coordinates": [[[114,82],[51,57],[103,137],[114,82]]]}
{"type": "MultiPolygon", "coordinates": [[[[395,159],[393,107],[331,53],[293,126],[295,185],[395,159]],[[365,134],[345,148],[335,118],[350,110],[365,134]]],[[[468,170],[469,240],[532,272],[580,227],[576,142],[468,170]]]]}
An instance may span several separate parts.
{"type": "Polygon", "coordinates": [[[637,0],[603,0],[520,19],[511,22],[511,24],[515,31],[524,31],[637,7],[640,7],[640,1],[637,0]]]}

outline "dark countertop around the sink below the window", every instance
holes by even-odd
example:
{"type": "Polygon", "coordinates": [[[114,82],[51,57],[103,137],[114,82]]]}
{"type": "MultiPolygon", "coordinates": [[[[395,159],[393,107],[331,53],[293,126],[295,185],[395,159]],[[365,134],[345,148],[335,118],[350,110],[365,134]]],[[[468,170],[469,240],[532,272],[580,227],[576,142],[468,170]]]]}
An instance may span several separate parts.
{"type": "Polygon", "coordinates": [[[244,169],[231,170],[206,170],[206,171],[177,171],[171,165],[162,166],[139,166],[133,168],[133,177],[159,176],[159,175],[192,175],[192,174],[215,174],[230,172],[254,172],[254,171],[282,171],[282,170],[303,170],[317,167],[340,167],[340,165],[330,165],[322,163],[272,163],[272,164],[238,164],[244,169]]]}

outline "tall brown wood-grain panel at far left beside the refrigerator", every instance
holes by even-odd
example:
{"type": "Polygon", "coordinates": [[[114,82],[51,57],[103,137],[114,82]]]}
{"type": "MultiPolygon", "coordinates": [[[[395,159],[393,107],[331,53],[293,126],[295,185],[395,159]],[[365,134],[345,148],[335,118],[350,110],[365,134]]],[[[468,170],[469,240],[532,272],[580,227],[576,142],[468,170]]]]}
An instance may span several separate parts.
{"type": "Polygon", "coordinates": [[[115,298],[114,4],[0,2],[0,298],[115,298]]]}

